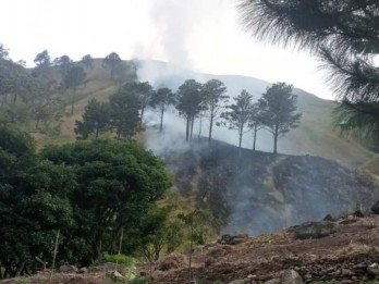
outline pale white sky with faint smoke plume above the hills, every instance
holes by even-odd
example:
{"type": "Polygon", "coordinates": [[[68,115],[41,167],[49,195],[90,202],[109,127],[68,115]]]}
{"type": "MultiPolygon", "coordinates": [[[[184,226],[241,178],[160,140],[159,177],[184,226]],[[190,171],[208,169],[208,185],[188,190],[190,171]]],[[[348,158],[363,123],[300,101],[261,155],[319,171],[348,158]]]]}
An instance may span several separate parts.
{"type": "Polygon", "coordinates": [[[112,51],[122,59],[172,62],[212,74],[284,81],[332,99],[304,52],[258,42],[242,30],[235,0],[1,0],[0,42],[13,60],[80,60],[112,51]]]}

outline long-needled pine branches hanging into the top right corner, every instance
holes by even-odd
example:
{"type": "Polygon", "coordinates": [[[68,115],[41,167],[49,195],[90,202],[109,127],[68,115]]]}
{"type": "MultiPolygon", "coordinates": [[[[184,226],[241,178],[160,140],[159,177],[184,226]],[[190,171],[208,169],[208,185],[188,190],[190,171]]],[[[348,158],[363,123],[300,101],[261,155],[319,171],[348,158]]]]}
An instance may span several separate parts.
{"type": "Polygon", "coordinates": [[[378,145],[378,1],[242,0],[240,9],[246,28],[259,38],[311,50],[341,100],[335,123],[378,145]]]}

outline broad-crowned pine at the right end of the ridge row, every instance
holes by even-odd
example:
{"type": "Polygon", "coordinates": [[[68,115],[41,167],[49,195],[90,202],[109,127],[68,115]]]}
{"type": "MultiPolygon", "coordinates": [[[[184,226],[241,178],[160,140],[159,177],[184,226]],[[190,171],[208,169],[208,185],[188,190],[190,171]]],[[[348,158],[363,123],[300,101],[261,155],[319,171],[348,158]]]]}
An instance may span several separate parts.
{"type": "Polygon", "coordinates": [[[273,135],[273,152],[278,152],[278,139],[298,126],[302,118],[296,111],[297,96],[292,94],[292,85],[273,84],[259,99],[261,122],[273,135]]]}

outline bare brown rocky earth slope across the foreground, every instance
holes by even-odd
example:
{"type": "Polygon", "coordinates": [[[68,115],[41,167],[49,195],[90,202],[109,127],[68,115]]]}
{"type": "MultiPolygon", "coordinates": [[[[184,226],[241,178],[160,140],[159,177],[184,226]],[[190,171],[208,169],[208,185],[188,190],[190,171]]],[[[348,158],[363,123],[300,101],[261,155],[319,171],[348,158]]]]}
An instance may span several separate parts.
{"type": "MultiPolygon", "coordinates": [[[[234,280],[264,283],[290,269],[297,271],[305,283],[372,281],[375,275],[370,275],[367,268],[375,262],[379,263],[379,215],[351,215],[333,222],[338,224],[338,232],[319,239],[295,239],[294,227],[290,227],[277,234],[257,237],[243,235],[237,238],[236,245],[212,244],[198,247],[192,259],[192,276],[195,280],[192,283],[228,284],[234,280]]],[[[175,262],[178,261],[183,263],[169,267],[166,271],[159,270],[164,260],[155,263],[154,283],[190,283],[188,254],[176,256],[175,262]]],[[[89,268],[85,274],[54,273],[52,283],[108,283],[105,274],[113,269],[112,264],[105,264],[89,268]]],[[[149,273],[147,264],[139,264],[138,269],[144,275],[149,273]]],[[[46,271],[33,277],[0,283],[48,283],[49,275],[49,271],[46,271]],[[21,280],[27,282],[20,282],[21,280]]]]}

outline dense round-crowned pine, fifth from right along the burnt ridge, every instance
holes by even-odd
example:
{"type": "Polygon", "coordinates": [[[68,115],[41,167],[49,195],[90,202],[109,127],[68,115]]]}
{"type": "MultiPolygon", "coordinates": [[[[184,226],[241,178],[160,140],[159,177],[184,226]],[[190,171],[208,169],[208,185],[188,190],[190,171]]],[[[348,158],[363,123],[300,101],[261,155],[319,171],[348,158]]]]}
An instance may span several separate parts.
{"type": "Polygon", "coordinates": [[[185,127],[185,140],[192,139],[192,133],[194,128],[194,121],[196,115],[201,110],[205,110],[204,106],[204,92],[201,91],[201,84],[195,79],[186,79],[176,91],[178,104],[175,108],[179,110],[179,114],[186,121],[185,127]]]}

